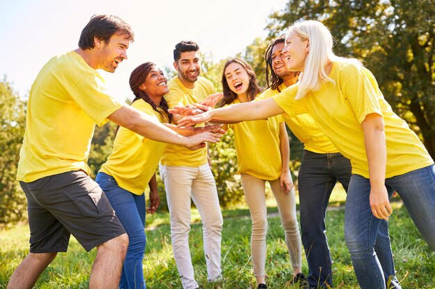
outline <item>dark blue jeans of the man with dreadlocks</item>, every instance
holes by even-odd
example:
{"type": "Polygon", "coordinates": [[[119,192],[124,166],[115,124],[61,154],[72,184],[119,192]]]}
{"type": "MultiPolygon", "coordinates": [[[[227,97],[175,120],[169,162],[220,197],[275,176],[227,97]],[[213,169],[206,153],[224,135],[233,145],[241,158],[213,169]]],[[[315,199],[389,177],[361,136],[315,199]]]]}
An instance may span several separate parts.
{"type": "MultiPolygon", "coordinates": [[[[336,182],[345,191],[350,183],[351,165],[340,153],[320,154],[304,150],[299,169],[299,209],[302,244],[309,267],[308,282],[312,288],[332,287],[331,253],[326,236],[325,216],[336,182]]],[[[375,247],[387,278],[395,276],[391,258],[388,222],[382,222],[375,247]]],[[[399,288],[399,287],[397,287],[399,288]]]]}

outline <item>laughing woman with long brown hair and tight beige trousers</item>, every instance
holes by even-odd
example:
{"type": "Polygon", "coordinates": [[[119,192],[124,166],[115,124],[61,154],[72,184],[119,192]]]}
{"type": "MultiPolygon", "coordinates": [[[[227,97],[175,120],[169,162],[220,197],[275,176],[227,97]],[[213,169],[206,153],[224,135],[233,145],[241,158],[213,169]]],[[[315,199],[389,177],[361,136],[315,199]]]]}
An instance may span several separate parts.
{"type": "MultiPolygon", "coordinates": [[[[256,82],[252,67],[238,59],[229,60],[224,65],[222,87],[222,106],[250,102],[263,91],[256,82]]],[[[277,201],[294,279],[304,279],[301,273],[302,250],[295,191],[288,168],[290,149],[284,121],[281,116],[274,116],[230,124],[229,128],[234,132],[238,173],[242,178],[243,193],[252,218],[252,263],[258,288],[268,288],[265,282],[268,232],[265,182],[269,182],[277,201]]]]}

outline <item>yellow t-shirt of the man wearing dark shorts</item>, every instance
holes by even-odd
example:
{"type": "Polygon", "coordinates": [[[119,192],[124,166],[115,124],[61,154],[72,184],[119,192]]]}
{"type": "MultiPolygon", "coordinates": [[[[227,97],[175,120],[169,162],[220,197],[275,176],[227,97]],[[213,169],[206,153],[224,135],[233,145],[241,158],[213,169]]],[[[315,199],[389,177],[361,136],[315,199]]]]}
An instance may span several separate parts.
{"type": "Polygon", "coordinates": [[[89,174],[95,123],[104,125],[122,105],[108,95],[104,78],[75,51],[51,58],[28,97],[17,179],[33,182],[70,170],[89,174]]]}

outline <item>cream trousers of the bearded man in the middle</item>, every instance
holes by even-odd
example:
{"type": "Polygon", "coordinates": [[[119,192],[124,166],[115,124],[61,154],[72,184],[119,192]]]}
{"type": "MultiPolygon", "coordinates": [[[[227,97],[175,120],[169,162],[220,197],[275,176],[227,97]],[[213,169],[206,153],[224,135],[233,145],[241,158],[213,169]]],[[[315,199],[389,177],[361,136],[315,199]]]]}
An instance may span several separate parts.
{"type": "Polygon", "coordinates": [[[208,279],[220,277],[222,212],[215,179],[208,164],[199,167],[160,166],[170,211],[172,250],[184,289],[198,288],[189,248],[190,198],[202,219],[208,279]]]}

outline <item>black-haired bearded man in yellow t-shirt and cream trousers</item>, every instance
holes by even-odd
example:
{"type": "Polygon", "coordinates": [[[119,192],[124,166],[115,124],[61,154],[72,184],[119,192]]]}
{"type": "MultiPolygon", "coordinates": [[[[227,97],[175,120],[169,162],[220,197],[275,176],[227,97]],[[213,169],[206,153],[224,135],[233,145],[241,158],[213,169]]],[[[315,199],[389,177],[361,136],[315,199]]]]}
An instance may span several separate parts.
{"type": "MultiPolygon", "coordinates": [[[[200,63],[199,46],[195,42],[183,41],[175,46],[174,68],[177,69],[178,76],[168,82],[170,91],[165,99],[169,107],[198,103],[215,92],[213,84],[199,76],[200,63]]],[[[174,121],[177,122],[178,119],[174,116],[174,121]]],[[[199,288],[194,277],[188,242],[190,198],[195,202],[203,222],[208,279],[220,279],[223,220],[206,148],[192,151],[181,146],[167,145],[161,159],[160,173],[165,182],[170,209],[174,259],[183,288],[199,288]]]]}

